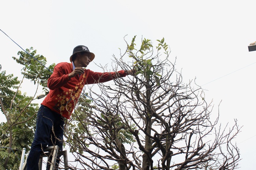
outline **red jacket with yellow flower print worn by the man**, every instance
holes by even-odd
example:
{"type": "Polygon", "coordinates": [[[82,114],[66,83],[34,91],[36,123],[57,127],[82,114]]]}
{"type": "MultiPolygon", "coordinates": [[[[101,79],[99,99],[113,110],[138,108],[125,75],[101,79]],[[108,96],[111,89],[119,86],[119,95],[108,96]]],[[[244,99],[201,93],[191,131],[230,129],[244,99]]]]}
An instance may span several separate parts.
{"type": "Polygon", "coordinates": [[[110,73],[98,73],[85,69],[84,74],[80,77],[76,75],[69,79],[69,73],[72,71],[72,63],[61,62],[55,66],[47,82],[50,92],[41,103],[67,119],[70,119],[71,113],[74,110],[85,84],[107,82],[126,76],[124,70],[110,73]]]}

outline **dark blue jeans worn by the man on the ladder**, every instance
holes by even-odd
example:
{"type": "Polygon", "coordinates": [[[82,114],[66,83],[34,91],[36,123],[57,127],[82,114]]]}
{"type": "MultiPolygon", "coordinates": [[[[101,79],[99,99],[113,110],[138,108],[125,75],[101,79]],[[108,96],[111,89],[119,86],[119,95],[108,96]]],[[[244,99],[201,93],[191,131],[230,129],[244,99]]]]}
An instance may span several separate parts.
{"type": "MultiPolygon", "coordinates": [[[[38,170],[42,148],[58,145],[63,147],[64,117],[41,105],[37,113],[34,141],[27,158],[27,170],[38,170]]],[[[58,163],[59,161],[57,161],[58,163]]]]}

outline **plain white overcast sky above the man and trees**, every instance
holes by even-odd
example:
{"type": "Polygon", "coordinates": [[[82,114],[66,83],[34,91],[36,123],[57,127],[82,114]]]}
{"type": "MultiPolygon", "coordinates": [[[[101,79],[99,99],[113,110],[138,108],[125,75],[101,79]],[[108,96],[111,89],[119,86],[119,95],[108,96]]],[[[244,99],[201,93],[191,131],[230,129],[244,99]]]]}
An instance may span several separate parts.
{"type": "MultiPolygon", "coordinates": [[[[1,2],[0,29],[22,48],[37,49],[48,65],[69,62],[73,48],[85,45],[108,69],[118,48],[124,51],[125,35],[128,42],[137,35],[137,44],[143,36],[155,45],[164,37],[184,81],[197,77],[206,101],[213,99],[213,115],[222,101],[221,122],[231,126],[237,119],[243,126],[240,166],[254,169],[256,51],[248,45],[256,41],[255,7],[254,0],[10,0],[1,2]]],[[[21,50],[0,32],[2,71],[19,75],[11,57],[21,50]]],[[[95,63],[88,68],[102,71],[95,63]]]]}

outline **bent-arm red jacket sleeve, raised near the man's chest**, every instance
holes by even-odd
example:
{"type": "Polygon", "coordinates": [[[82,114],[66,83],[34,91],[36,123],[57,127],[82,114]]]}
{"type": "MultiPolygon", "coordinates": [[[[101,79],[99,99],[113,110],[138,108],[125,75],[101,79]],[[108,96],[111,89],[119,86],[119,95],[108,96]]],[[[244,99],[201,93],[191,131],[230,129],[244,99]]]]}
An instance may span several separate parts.
{"type": "Polygon", "coordinates": [[[57,64],[51,77],[47,80],[47,86],[50,90],[60,88],[69,82],[69,73],[63,64],[57,64]]]}

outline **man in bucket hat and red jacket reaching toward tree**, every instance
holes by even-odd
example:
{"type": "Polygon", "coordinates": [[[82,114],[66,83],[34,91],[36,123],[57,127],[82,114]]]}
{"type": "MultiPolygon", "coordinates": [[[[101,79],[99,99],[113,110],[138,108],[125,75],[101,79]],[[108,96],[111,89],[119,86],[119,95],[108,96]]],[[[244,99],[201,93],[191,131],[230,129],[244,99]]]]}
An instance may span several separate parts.
{"type": "Polygon", "coordinates": [[[86,46],[76,46],[70,56],[71,63],[61,62],[55,66],[47,82],[49,94],[37,113],[35,137],[27,158],[27,170],[38,170],[39,157],[45,146],[58,145],[62,150],[64,119],[70,119],[85,84],[107,82],[134,72],[121,70],[98,73],[84,69],[94,58],[94,53],[86,46]]]}

